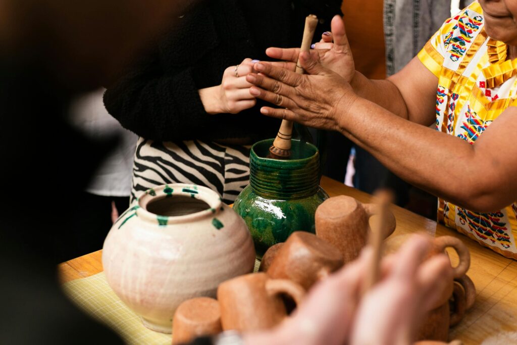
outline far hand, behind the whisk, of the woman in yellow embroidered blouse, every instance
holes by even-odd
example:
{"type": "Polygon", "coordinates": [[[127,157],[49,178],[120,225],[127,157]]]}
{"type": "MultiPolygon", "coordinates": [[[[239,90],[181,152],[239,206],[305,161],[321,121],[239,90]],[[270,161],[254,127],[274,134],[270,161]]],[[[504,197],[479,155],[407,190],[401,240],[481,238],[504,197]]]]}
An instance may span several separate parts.
{"type": "MultiPolygon", "coordinates": [[[[355,77],[354,57],[346,38],[345,26],[340,16],[335,16],[331,23],[331,33],[324,33],[320,42],[314,44],[310,54],[313,59],[324,67],[338,73],[347,82],[351,83],[355,77]],[[332,43],[332,39],[334,43],[332,43]]],[[[285,62],[273,63],[276,67],[283,67],[294,71],[298,61],[299,48],[282,49],[268,48],[266,54],[271,58],[285,62]]]]}

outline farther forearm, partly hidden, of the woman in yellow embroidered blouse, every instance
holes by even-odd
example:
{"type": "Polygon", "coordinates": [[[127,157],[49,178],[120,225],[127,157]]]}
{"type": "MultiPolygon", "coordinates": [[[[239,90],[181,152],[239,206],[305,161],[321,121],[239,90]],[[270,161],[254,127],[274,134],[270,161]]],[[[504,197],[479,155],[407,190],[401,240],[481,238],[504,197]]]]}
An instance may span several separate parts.
{"type": "Polygon", "coordinates": [[[356,71],[351,86],[358,96],[378,104],[397,116],[408,118],[406,102],[399,88],[391,81],[371,80],[356,71]]]}

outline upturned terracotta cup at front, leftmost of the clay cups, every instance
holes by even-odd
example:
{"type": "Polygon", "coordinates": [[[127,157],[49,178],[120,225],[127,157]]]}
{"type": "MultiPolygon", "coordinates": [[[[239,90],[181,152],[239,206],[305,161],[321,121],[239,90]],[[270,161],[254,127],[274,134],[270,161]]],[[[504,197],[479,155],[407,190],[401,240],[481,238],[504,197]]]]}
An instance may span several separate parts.
{"type": "Polygon", "coordinates": [[[200,336],[222,332],[221,309],[214,298],[197,297],[181,303],[172,320],[172,343],[188,343],[200,336]]]}

